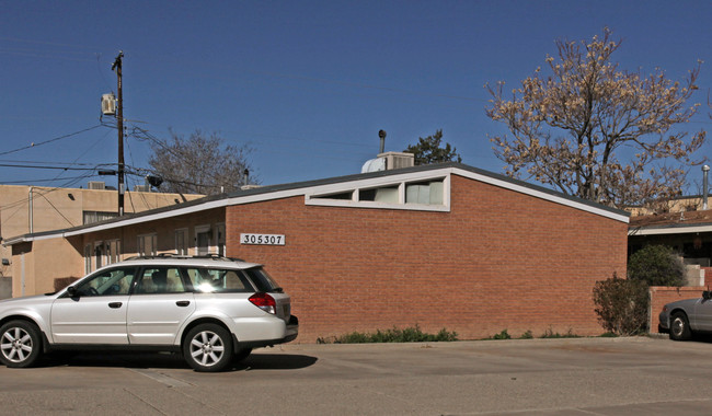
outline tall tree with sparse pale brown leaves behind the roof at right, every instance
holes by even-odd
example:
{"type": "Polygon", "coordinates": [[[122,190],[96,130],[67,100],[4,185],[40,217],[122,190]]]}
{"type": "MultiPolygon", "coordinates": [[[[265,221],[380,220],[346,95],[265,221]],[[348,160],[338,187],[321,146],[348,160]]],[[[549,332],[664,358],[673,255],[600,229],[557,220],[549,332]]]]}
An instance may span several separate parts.
{"type": "Polygon", "coordinates": [[[590,42],[558,41],[547,57],[550,76],[537,68],[512,91],[486,85],[486,113],[512,137],[490,137],[513,177],[535,178],[567,195],[623,208],[681,194],[686,169],[705,131],[681,128],[699,104],[688,105],[700,62],[682,82],[656,69],[651,76],[620,70],[611,32],[590,42]]]}

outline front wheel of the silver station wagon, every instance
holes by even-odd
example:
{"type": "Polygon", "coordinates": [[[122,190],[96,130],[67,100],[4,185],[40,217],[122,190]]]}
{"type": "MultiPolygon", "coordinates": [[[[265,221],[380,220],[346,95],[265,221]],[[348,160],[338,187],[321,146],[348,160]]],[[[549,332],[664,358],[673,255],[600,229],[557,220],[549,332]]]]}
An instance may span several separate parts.
{"type": "Polygon", "coordinates": [[[10,321],[0,327],[0,360],[10,368],[34,366],[42,355],[37,326],[27,321],[10,321]]]}

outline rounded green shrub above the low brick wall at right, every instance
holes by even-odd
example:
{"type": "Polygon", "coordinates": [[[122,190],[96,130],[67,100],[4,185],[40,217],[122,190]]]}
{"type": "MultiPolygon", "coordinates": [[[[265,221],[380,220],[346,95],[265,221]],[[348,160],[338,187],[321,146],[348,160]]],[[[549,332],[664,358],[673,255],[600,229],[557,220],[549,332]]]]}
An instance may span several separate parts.
{"type": "Polygon", "coordinates": [[[680,287],[685,284],[685,264],[671,247],[648,245],[629,258],[628,278],[647,286],[680,287]]]}

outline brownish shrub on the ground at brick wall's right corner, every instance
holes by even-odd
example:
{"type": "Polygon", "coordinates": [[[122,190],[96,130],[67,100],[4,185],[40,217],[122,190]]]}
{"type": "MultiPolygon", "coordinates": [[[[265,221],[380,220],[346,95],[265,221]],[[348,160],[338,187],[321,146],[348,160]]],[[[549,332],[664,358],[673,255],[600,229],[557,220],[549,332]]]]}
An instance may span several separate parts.
{"type": "Polygon", "coordinates": [[[594,303],[601,326],[616,335],[636,335],[647,326],[647,285],[616,274],[594,286],[594,303]]]}

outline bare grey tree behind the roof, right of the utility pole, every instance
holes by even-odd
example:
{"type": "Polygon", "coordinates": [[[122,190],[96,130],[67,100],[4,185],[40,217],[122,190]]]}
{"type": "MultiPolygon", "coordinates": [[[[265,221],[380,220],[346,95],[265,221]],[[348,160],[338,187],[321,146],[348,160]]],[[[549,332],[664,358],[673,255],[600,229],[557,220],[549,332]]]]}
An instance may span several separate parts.
{"type": "Polygon", "coordinates": [[[163,178],[163,190],[211,195],[246,184],[252,151],[246,145],[226,145],[216,132],[195,130],[187,138],[173,130],[170,134],[168,140],[151,140],[153,153],[148,161],[163,178]]]}

